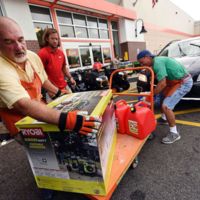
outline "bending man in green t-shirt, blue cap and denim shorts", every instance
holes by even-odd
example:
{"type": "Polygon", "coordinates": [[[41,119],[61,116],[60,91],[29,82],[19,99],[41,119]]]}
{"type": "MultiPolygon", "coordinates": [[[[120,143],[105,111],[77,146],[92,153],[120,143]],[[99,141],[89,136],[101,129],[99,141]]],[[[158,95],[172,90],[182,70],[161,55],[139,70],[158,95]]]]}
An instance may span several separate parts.
{"type": "Polygon", "coordinates": [[[169,124],[169,133],[162,139],[164,144],[172,144],[181,138],[175,123],[174,107],[192,88],[193,80],[185,67],[173,58],[154,56],[150,51],[143,50],[137,55],[142,66],[152,67],[158,84],[154,95],[162,94],[161,118],[159,123],[169,124]]]}

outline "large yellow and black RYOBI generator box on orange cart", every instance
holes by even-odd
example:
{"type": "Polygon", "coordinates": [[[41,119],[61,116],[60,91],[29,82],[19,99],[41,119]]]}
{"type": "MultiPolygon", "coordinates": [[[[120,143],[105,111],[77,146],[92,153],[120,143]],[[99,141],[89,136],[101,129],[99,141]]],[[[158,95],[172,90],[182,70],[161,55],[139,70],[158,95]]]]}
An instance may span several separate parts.
{"type": "Polygon", "coordinates": [[[88,111],[103,121],[92,136],[60,132],[57,126],[30,117],[18,121],[37,186],[106,195],[116,143],[111,90],[65,95],[48,106],[62,112],[88,111]]]}

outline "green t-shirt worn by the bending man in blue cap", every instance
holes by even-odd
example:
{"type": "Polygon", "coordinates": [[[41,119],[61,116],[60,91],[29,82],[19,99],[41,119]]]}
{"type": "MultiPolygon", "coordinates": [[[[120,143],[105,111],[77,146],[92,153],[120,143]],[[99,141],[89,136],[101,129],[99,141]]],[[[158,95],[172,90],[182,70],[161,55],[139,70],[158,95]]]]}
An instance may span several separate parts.
{"type": "Polygon", "coordinates": [[[182,79],[188,72],[186,68],[174,58],[158,56],[153,59],[153,70],[158,81],[182,79]]]}

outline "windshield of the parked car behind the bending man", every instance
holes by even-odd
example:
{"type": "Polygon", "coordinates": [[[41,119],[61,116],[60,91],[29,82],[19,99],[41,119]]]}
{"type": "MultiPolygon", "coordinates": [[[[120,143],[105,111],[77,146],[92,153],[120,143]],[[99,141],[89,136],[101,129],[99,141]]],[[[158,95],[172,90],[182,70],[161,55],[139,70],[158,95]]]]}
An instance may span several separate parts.
{"type": "Polygon", "coordinates": [[[169,51],[170,57],[199,56],[200,39],[173,43],[169,51]]]}

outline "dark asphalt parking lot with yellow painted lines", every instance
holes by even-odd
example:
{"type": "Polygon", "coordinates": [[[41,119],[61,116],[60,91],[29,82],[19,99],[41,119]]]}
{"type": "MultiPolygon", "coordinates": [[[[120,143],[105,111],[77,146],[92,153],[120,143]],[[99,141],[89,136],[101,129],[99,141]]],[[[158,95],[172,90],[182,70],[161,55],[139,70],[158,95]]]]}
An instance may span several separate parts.
{"type": "MultiPolygon", "coordinates": [[[[129,169],[112,200],[199,200],[200,199],[200,103],[181,102],[176,119],[181,140],[161,144],[167,133],[157,126],[156,137],[139,153],[139,165],[129,169]]],[[[15,141],[0,147],[0,200],[39,200],[25,150],[15,141]]],[[[56,192],[53,200],[84,200],[84,195],[56,192]]]]}

